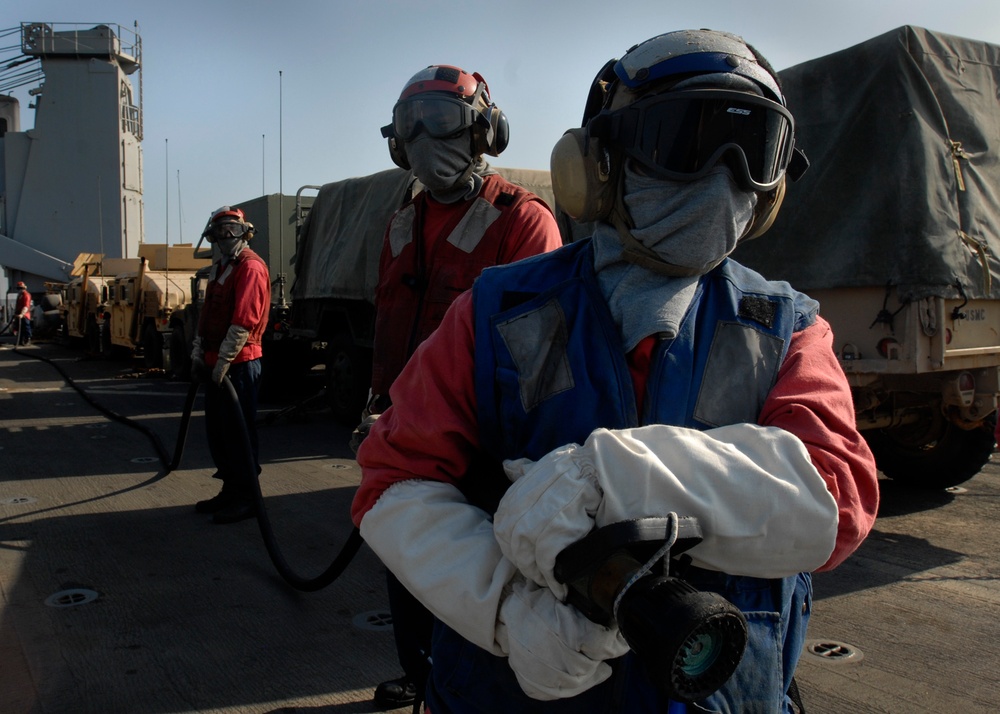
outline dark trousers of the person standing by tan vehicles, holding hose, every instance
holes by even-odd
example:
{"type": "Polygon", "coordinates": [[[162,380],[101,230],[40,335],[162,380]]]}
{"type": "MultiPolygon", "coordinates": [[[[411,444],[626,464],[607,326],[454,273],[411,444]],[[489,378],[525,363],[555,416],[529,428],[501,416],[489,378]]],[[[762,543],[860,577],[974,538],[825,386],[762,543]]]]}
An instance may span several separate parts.
{"type": "MultiPolygon", "coordinates": [[[[260,360],[240,362],[229,368],[229,381],[236,390],[239,409],[246,423],[255,474],[260,474],[260,447],[257,440],[257,395],[260,391],[260,360]]],[[[224,487],[249,495],[251,482],[244,472],[246,454],[242,425],[233,412],[232,398],[225,385],[209,383],[205,388],[205,433],[208,450],[215,462],[217,478],[224,487]]]]}

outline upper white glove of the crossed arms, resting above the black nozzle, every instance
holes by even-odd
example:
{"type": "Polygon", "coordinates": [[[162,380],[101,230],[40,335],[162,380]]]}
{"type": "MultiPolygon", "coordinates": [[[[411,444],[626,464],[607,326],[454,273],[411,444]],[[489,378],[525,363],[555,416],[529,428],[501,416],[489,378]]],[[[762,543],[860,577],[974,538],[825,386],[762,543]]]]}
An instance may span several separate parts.
{"type": "Polygon", "coordinates": [[[837,503],[805,445],[776,427],[708,431],[651,425],[594,431],[537,462],[505,465],[514,484],[494,516],[504,555],[565,598],[556,556],[595,526],[695,516],[695,565],[732,575],[787,577],[823,565],[837,536],[837,503]]]}

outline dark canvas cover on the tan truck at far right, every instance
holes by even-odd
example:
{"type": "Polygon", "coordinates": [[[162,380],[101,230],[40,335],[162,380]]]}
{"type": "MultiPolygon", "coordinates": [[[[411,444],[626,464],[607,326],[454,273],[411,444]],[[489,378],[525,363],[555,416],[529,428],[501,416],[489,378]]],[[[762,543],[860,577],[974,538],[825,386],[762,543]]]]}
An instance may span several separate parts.
{"type": "Polygon", "coordinates": [[[1000,46],[906,26],[779,74],[811,166],[733,257],[804,291],[1000,298],[1000,46]]]}

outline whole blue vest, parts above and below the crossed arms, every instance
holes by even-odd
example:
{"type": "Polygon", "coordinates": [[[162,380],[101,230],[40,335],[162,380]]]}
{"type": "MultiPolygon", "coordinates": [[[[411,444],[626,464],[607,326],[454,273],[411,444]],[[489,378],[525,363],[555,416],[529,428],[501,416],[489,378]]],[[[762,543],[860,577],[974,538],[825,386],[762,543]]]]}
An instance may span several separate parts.
{"type": "MultiPolygon", "coordinates": [[[[700,280],[677,336],[657,346],[640,415],[590,241],[488,268],[473,296],[480,438],[497,460],[536,460],[583,443],[598,427],[756,423],[793,332],[812,324],[818,311],[787,283],[724,261],[700,280]]],[[[750,629],[736,673],[689,711],[785,711],[811,607],[809,575],[765,580],[691,568],[685,579],[729,599],[750,629]]],[[[612,664],[608,681],[555,702],[525,696],[505,659],[441,623],[433,661],[427,701],[436,714],[683,711],[658,694],[631,653],[612,664]]]]}

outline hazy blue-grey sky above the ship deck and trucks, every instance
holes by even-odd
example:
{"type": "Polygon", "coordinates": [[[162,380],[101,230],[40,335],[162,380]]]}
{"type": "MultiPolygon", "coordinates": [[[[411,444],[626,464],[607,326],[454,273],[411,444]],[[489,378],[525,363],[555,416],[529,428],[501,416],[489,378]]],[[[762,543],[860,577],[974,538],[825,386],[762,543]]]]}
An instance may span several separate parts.
{"type": "MultiPolygon", "coordinates": [[[[997,0],[32,0],[22,22],[142,40],[145,241],[197,242],[211,212],[392,168],[379,129],[431,64],[486,79],[510,123],[498,167],[547,169],[594,76],[663,32],[742,35],[782,70],[902,25],[1000,44],[997,0]]],[[[133,83],[137,75],[132,75],[133,83]]],[[[31,86],[11,92],[21,129],[31,86]]]]}

